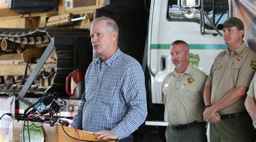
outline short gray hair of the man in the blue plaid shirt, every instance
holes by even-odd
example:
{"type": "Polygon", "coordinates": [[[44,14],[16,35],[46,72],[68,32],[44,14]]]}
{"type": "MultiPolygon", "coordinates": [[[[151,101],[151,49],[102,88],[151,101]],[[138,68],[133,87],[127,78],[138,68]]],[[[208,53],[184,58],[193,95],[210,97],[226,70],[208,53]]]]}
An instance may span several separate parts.
{"type": "Polygon", "coordinates": [[[106,27],[107,27],[107,30],[112,33],[113,31],[116,31],[117,32],[117,43],[118,43],[118,35],[119,35],[119,30],[118,30],[118,26],[117,26],[117,23],[109,18],[109,17],[105,17],[105,16],[102,16],[102,17],[99,17],[99,18],[96,18],[94,19],[92,22],[91,22],[91,25],[96,23],[97,21],[107,21],[106,22],[106,27]]]}

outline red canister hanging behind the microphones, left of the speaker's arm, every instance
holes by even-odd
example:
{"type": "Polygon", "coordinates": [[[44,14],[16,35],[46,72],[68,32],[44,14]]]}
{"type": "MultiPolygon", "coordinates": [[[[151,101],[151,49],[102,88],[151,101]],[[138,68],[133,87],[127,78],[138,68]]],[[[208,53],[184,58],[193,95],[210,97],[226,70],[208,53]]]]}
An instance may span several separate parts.
{"type": "Polygon", "coordinates": [[[73,71],[66,77],[66,93],[71,99],[81,99],[84,92],[84,73],[73,71]]]}

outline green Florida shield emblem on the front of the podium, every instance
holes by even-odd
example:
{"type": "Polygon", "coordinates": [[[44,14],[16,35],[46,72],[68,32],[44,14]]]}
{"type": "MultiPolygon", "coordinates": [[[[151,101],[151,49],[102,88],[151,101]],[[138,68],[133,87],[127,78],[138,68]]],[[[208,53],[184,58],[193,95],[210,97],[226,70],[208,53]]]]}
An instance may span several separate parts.
{"type": "MultiPolygon", "coordinates": [[[[22,132],[23,133],[23,132],[22,132]]],[[[29,132],[28,132],[28,125],[25,125],[24,130],[25,142],[29,141],[44,141],[44,131],[43,126],[37,126],[35,123],[31,123],[29,125],[29,132]]],[[[21,140],[23,141],[23,134],[21,135],[21,140]]]]}

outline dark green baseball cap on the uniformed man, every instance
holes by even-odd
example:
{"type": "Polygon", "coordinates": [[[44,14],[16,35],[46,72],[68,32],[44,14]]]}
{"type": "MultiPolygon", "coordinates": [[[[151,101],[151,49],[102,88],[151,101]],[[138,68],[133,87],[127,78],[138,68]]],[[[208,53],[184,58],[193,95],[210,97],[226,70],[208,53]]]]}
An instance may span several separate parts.
{"type": "Polygon", "coordinates": [[[226,27],[238,26],[241,30],[245,30],[244,24],[237,17],[229,17],[229,18],[227,18],[226,21],[223,24],[219,24],[217,26],[217,29],[218,30],[222,30],[223,26],[226,26],[226,27]]]}

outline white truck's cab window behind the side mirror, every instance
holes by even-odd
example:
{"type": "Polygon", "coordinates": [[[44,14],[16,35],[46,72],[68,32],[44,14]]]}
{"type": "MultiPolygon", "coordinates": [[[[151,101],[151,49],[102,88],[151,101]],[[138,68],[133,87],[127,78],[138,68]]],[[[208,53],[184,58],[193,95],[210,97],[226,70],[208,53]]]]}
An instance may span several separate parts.
{"type": "MultiPolygon", "coordinates": [[[[224,0],[205,0],[204,11],[211,19],[215,26],[221,24],[228,17],[228,2],[224,0]]],[[[169,0],[167,8],[167,20],[168,21],[200,21],[200,12],[197,11],[196,16],[193,18],[185,17],[183,11],[178,8],[177,0],[169,0]]],[[[210,22],[205,17],[205,27],[207,29],[213,29],[210,22]]]]}

